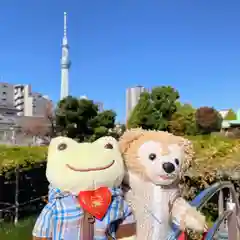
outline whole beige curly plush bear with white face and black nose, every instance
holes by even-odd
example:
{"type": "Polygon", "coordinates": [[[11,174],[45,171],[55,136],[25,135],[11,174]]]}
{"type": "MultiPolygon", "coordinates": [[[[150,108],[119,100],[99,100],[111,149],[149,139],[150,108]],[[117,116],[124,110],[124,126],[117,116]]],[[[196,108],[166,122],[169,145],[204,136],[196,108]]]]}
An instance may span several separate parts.
{"type": "Polygon", "coordinates": [[[172,222],[182,230],[203,231],[205,217],[180,196],[178,186],[193,157],[191,143],[168,132],[131,129],[119,144],[127,169],[126,198],[137,222],[136,239],[175,239],[172,222]]]}

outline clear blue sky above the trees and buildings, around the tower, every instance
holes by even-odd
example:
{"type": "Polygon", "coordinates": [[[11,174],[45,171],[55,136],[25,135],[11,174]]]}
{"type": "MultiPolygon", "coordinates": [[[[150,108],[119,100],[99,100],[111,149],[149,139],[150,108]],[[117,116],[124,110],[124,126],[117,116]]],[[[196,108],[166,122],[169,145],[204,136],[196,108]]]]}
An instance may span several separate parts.
{"type": "Polygon", "coordinates": [[[60,95],[63,12],[70,93],[125,118],[125,90],[171,85],[183,102],[240,106],[239,0],[1,0],[0,81],[60,95]]]}

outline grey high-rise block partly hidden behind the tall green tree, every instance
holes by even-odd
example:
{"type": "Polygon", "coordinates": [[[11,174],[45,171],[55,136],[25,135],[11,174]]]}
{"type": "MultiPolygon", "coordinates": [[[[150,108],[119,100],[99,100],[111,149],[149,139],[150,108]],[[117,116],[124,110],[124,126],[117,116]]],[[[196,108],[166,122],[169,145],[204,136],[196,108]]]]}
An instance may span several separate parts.
{"type": "Polygon", "coordinates": [[[126,120],[129,118],[132,110],[137,105],[141,93],[145,92],[146,88],[143,86],[136,86],[128,88],[126,91],[126,120]]]}

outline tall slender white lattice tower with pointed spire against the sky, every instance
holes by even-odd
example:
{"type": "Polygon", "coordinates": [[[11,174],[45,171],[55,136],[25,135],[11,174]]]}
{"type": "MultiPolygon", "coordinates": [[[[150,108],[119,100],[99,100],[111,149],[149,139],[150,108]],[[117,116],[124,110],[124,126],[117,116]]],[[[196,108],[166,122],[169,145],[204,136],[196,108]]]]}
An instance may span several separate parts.
{"type": "Polygon", "coordinates": [[[60,99],[63,99],[69,95],[69,69],[70,69],[70,60],[69,60],[69,46],[67,40],[67,13],[64,12],[64,34],[62,40],[62,58],[61,58],[61,96],[60,99]]]}

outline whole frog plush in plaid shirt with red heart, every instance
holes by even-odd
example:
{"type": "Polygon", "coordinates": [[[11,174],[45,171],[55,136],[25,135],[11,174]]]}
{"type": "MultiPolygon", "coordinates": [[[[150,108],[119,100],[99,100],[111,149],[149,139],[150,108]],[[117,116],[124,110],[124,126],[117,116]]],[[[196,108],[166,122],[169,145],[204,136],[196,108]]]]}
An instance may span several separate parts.
{"type": "MultiPolygon", "coordinates": [[[[134,225],[119,187],[124,164],[114,138],[102,137],[93,143],[54,138],[48,149],[46,176],[48,203],[36,221],[33,239],[115,239],[117,226],[127,229],[134,225]]],[[[121,236],[118,228],[118,239],[135,234],[124,232],[129,235],[121,236]]]]}

